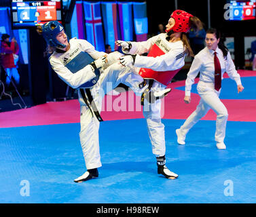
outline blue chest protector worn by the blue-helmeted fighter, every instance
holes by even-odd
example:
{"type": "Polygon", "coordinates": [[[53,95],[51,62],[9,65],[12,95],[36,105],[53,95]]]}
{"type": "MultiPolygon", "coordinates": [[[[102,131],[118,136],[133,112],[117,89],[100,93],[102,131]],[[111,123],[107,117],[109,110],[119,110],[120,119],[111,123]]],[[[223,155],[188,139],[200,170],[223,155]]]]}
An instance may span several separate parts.
{"type": "MultiPolygon", "coordinates": [[[[82,68],[86,67],[88,64],[90,64],[93,61],[94,61],[94,59],[92,58],[92,56],[90,56],[90,54],[88,54],[86,52],[80,52],[79,54],[77,54],[77,56],[75,56],[75,58],[73,58],[65,66],[67,68],[69,68],[69,71],[71,71],[71,73],[77,73],[77,71],[79,71],[82,68]]],[[[83,85],[77,87],[77,89],[79,89],[81,87],[84,87],[84,88],[93,87],[98,82],[98,79],[100,77],[100,71],[98,69],[96,69],[94,71],[94,73],[95,73],[96,77],[94,77],[90,81],[87,81],[83,85]]]]}

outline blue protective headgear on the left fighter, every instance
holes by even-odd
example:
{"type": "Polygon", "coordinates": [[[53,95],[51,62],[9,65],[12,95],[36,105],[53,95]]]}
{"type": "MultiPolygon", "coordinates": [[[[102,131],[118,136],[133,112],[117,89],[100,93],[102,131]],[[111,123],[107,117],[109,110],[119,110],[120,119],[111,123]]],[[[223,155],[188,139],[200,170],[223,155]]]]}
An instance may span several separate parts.
{"type": "MultiPolygon", "coordinates": [[[[57,39],[56,36],[58,33],[64,30],[62,24],[60,24],[58,21],[50,21],[46,22],[42,26],[43,30],[43,37],[45,41],[51,46],[51,47],[66,47],[66,45],[60,43],[57,39]]],[[[67,40],[69,41],[69,38],[67,37],[67,40]]]]}

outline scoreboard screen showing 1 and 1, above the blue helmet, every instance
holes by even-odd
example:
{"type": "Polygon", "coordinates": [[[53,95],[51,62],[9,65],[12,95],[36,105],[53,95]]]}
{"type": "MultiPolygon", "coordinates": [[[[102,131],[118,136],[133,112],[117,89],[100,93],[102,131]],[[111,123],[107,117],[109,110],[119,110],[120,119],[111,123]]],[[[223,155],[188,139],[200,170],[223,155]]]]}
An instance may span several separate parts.
{"type": "Polygon", "coordinates": [[[62,20],[62,0],[26,1],[12,0],[12,27],[41,26],[51,20],[62,20]]]}

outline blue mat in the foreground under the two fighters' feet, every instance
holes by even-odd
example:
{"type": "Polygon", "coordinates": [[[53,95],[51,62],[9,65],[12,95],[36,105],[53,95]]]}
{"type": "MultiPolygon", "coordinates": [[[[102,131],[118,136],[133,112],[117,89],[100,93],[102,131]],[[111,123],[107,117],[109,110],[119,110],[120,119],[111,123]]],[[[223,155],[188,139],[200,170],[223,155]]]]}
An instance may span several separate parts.
{"type": "Polygon", "coordinates": [[[103,122],[100,176],[80,184],[79,123],[0,129],[0,203],[255,203],[256,123],[228,121],[220,151],[215,121],[199,121],[177,145],[183,121],[163,120],[166,165],[177,180],[157,174],[145,119],[103,122]]]}

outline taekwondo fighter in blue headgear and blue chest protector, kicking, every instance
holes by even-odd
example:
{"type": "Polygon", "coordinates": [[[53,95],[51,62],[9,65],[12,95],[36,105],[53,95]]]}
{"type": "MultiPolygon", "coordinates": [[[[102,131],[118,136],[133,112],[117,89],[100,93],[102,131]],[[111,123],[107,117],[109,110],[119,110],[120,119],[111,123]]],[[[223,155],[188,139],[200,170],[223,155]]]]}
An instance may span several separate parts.
{"type": "Polygon", "coordinates": [[[81,148],[84,153],[87,171],[75,182],[83,182],[98,177],[97,168],[101,166],[98,142],[100,111],[105,94],[120,83],[131,87],[141,95],[147,84],[143,78],[130,68],[119,64],[119,52],[105,54],[98,52],[86,40],[68,39],[63,26],[57,21],[43,24],[41,33],[52,48],[50,64],[60,79],[67,85],[79,89],[81,148]]]}

